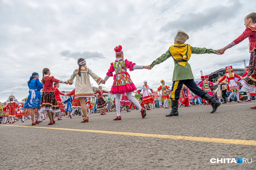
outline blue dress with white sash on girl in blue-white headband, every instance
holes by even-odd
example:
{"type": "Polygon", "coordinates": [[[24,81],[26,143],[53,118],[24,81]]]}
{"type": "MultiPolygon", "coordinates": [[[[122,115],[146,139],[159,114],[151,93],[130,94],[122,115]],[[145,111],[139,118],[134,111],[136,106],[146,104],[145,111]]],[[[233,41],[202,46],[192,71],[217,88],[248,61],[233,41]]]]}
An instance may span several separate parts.
{"type": "Polygon", "coordinates": [[[23,108],[40,108],[42,94],[40,90],[43,88],[43,83],[39,79],[32,79],[31,82],[28,81],[29,95],[27,101],[25,102],[23,108]]]}

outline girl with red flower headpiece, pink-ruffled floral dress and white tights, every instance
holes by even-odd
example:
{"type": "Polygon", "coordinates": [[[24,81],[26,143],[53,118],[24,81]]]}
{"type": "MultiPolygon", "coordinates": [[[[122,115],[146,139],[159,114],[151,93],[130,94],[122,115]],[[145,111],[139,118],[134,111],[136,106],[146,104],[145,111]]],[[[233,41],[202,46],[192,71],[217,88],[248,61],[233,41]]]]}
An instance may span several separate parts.
{"type": "Polygon", "coordinates": [[[107,76],[103,80],[103,83],[108,80],[110,76],[113,76],[113,72],[115,71],[116,74],[114,75],[114,83],[110,90],[111,94],[116,94],[116,110],[117,115],[114,120],[121,120],[120,115],[120,97],[121,94],[126,93],[128,99],[132,101],[140,110],[142,118],[146,116],[146,110],[141,108],[139,102],[132,96],[132,92],[137,90],[135,85],[133,84],[127,69],[133,71],[134,69],[143,69],[149,68],[146,66],[137,66],[135,63],[128,61],[127,59],[124,60],[124,53],[122,51],[122,46],[119,45],[118,47],[114,48],[116,52],[116,61],[110,64],[110,68],[108,69],[107,76]]]}

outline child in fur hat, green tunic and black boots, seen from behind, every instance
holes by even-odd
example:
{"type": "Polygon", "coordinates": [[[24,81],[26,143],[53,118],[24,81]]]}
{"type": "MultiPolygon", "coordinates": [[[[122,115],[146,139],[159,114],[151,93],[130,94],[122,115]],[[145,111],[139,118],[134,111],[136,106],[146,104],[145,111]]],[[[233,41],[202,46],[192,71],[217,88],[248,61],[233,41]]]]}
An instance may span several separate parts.
{"type": "Polygon", "coordinates": [[[175,62],[173,76],[172,76],[172,89],[171,89],[171,100],[172,100],[172,111],[165,116],[178,116],[178,99],[180,98],[180,90],[183,84],[185,84],[194,94],[202,97],[206,101],[209,101],[212,105],[211,113],[217,111],[217,108],[220,106],[220,102],[216,101],[214,97],[208,95],[206,92],[201,90],[196,86],[194,82],[194,76],[188,64],[188,60],[191,57],[191,54],[219,54],[216,53],[216,50],[206,49],[206,48],[197,48],[192,47],[189,44],[185,44],[189,36],[184,32],[179,30],[174,37],[174,45],[172,45],[165,54],[158,57],[150,65],[153,68],[156,64],[164,62],[166,59],[172,56],[175,62]]]}

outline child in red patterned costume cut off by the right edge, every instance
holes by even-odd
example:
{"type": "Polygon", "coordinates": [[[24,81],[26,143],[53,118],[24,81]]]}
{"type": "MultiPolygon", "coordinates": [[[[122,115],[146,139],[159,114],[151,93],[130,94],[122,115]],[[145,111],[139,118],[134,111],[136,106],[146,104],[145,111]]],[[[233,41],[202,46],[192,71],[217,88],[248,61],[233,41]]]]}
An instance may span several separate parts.
{"type": "MultiPolygon", "coordinates": [[[[234,45],[242,42],[245,38],[249,37],[249,71],[248,78],[242,82],[242,91],[249,92],[251,95],[256,95],[256,12],[248,14],[244,19],[245,31],[236,38],[233,42],[229,43],[226,47],[217,50],[217,52],[224,54],[224,52],[233,47],[234,45]]],[[[251,109],[256,109],[256,106],[252,106],[251,109]]]]}

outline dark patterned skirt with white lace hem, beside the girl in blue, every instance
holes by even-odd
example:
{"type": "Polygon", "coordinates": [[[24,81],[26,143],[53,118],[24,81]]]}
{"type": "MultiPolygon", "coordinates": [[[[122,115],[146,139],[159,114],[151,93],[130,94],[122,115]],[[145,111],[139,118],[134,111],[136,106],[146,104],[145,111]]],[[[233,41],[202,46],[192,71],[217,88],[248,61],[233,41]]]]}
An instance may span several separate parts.
{"type": "Polygon", "coordinates": [[[57,99],[53,91],[42,92],[42,99],[39,112],[47,113],[47,111],[50,111],[52,113],[57,113],[60,111],[57,99]]]}

